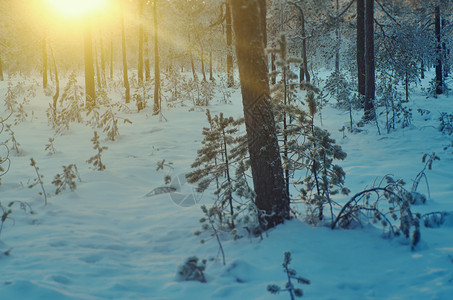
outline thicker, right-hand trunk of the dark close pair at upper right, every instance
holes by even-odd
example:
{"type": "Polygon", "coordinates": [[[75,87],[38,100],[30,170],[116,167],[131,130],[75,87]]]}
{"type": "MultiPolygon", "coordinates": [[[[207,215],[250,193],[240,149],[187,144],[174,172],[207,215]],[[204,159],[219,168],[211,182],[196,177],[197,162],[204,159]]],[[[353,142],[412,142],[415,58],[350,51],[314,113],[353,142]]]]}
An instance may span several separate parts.
{"type": "Polygon", "coordinates": [[[365,115],[366,121],[375,119],[373,100],[375,96],[374,62],[374,0],[365,4],[365,115]]]}

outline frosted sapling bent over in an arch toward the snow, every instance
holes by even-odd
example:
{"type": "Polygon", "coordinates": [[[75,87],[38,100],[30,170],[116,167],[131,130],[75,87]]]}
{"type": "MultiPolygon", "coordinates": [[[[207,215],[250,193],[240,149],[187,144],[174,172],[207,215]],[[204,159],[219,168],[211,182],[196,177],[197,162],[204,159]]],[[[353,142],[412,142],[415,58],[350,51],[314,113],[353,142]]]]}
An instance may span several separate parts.
{"type": "Polygon", "coordinates": [[[380,224],[389,237],[403,235],[411,239],[411,248],[420,241],[420,214],[412,213],[411,204],[419,193],[404,188],[404,181],[387,175],[377,186],[355,194],[346,202],[335,221],[335,227],[349,228],[371,221],[380,224]],[[385,185],[383,186],[383,182],[385,185]],[[398,224],[399,222],[399,224],[398,224]]]}

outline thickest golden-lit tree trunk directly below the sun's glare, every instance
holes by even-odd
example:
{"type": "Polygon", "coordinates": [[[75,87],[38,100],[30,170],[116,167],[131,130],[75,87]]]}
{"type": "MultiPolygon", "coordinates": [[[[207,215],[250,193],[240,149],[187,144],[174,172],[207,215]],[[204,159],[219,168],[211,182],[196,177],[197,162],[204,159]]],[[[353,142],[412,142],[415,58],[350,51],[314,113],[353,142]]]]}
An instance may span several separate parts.
{"type": "Polygon", "coordinates": [[[93,61],[93,43],[91,38],[91,22],[85,24],[85,93],[86,107],[93,108],[96,105],[96,88],[94,82],[94,61],[93,61]]]}

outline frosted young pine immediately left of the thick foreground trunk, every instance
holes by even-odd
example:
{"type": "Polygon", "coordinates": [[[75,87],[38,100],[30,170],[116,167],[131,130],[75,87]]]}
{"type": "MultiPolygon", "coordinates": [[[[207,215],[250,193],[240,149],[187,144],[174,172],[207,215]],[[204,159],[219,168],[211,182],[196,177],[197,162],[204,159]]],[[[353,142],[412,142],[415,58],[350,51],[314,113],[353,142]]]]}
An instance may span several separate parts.
{"type": "Polygon", "coordinates": [[[197,183],[199,193],[215,182],[218,198],[214,205],[221,212],[219,222],[233,229],[237,217],[235,207],[245,204],[238,198],[252,195],[245,175],[248,163],[241,164],[247,155],[245,136],[239,135],[239,126],[244,121],[225,118],[222,113],[212,117],[209,110],[206,116],[209,127],[203,128],[203,147],[198,150],[198,156],[192,164],[192,168],[197,169],[188,173],[186,178],[190,183],[197,183]],[[241,196],[235,197],[235,194],[241,196]]]}

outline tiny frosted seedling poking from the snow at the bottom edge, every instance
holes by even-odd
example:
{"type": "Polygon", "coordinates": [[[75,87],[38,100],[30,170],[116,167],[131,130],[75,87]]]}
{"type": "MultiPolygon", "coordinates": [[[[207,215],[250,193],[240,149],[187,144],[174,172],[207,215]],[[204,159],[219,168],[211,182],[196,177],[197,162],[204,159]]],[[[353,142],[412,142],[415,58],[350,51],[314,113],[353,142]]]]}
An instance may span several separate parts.
{"type": "Polygon", "coordinates": [[[287,291],[291,297],[291,300],[294,300],[295,297],[302,297],[303,291],[302,289],[296,288],[294,286],[293,280],[296,280],[297,283],[299,284],[310,284],[310,280],[302,276],[297,276],[297,271],[289,267],[290,263],[291,263],[291,252],[288,251],[285,252],[282,264],[283,272],[285,272],[287,278],[285,287],[282,288],[276,284],[268,284],[267,291],[270,292],[271,294],[278,294],[280,292],[287,291]]]}

